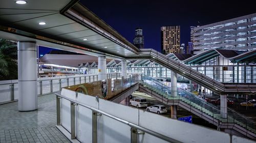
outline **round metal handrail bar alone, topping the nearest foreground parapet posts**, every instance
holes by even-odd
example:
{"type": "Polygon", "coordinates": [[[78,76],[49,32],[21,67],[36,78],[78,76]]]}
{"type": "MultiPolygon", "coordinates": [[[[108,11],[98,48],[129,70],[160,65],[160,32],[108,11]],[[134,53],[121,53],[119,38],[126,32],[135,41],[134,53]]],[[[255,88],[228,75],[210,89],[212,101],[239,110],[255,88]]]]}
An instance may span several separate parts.
{"type": "Polygon", "coordinates": [[[163,140],[165,140],[165,141],[181,143],[181,141],[178,141],[178,140],[173,139],[173,138],[170,138],[170,137],[168,137],[168,136],[159,134],[159,133],[157,133],[157,132],[155,132],[155,131],[146,129],[146,128],[144,128],[144,127],[138,126],[138,125],[133,124],[133,123],[131,123],[131,122],[125,121],[125,120],[120,119],[120,118],[118,118],[118,117],[116,117],[116,116],[110,115],[109,113],[106,113],[106,112],[104,112],[104,111],[101,111],[101,110],[99,110],[99,109],[96,109],[96,108],[94,108],[94,107],[92,107],[92,106],[85,105],[85,104],[83,104],[83,103],[80,103],[80,102],[78,102],[78,101],[72,100],[72,99],[70,99],[70,98],[67,98],[67,97],[62,96],[62,95],[57,94],[57,93],[55,93],[55,95],[58,96],[58,97],[64,98],[64,99],[66,99],[66,100],[69,100],[70,102],[73,102],[73,103],[76,103],[76,104],[78,104],[78,105],[81,105],[81,106],[83,106],[83,107],[89,108],[89,109],[91,109],[92,111],[101,113],[102,115],[108,116],[108,117],[110,117],[110,118],[112,118],[112,119],[114,119],[114,120],[116,120],[116,121],[119,121],[119,122],[121,122],[121,123],[124,123],[124,124],[126,124],[126,125],[129,125],[129,126],[131,126],[131,127],[137,128],[137,129],[142,130],[142,131],[144,131],[144,132],[147,132],[147,133],[149,133],[149,134],[151,134],[151,135],[153,135],[153,136],[156,136],[156,137],[158,137],[158,138],[161,138],[161,139],[163,139],[163,140]]]}

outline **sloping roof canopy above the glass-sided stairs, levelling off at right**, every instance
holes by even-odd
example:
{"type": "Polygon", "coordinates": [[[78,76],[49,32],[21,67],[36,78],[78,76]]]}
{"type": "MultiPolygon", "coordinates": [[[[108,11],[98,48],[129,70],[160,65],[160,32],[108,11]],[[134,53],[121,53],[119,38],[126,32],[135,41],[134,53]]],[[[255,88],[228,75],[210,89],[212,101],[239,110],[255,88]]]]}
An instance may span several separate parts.
{"type": "Polygon", "coordinates": [[[179,63],[168,56],[157,52],[154,49],[140,49],[138,55],[134,55],[126,60],[150,59],[190,80],[197,82],[203,87],[218,94],[245,94],[256,93],[255,83],[221,83],[210,77],[179,63]]]}

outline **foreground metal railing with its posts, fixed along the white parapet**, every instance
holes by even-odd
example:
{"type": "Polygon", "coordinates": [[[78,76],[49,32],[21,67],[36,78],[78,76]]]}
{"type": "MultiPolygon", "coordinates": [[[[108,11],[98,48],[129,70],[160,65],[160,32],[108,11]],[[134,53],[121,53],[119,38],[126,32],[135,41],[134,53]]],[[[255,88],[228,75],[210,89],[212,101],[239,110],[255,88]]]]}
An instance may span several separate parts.
{"type": "Polygon", "coordinates": [[[163,139],[165,141],[168,141],[168,142],[177,142],[177,143],[181,142],[181,141],[178,141],[176,139],[173,139],[173,138],[170,138],[168,136],[165,136],[165,135],[162,135],[160,133],[157,133],[155,131],[152,131],[150,129],[146,129],[144,127],[141,127],[141,126],[138,126],[136,124],[133,124],[133,123],[131,123],[129,121],[126,121],[126,120],[123,120],[123,119],[118,118],[116,116],[113,116],[110,113],[106,113],[106,112],[101,111],[99,109],[96,109],[96,108],[94,108],[92,106],[85,105],[85,104],[83,104],[81,102],[77,102],[75,100],[72,100],[70,98],[64,97],[64,96],[62,96],[60,94],[57,94],[57,93],[55,93],[55,94],[56,94],[56,102],[57,102],[57,104],[56,104],[57,105],[57,125],[61,125],[61,122],[60,122],[61,121],[61,119],[60,119],[60,99],[63,98],[63,99],[66,99],[66,100],[71,102],[71,104],[70,104],[70,108],[71,108],[71,110],[70,110],[70,115],[71,115],[71,117],[70,117],[71,118],[71,139],[75,139],[76,138],[76,132],[75,132],[76,131],[76,126],[75,126],[75,112],[76,112],[76,110],[75,110],[75,106],[76,105],[81,105],[83,107],[86,107],[86,108],[92,110],[93,142],[98,142],[98,138],[97,138],[98,132],[99,132],[99,127],[98,127],[99,121],[98,121],[98,118],[101,115],[107,116],[109,118],[112,118],[112,119],[114,119],[116,121],[119,121],[119,122],[121,122],[123,124],[126,124],[126,125],[130,126],[130,128],[131,128],[131,142],[139,142],[139,135],[140,134],[144,134],[145,132],[148,133],[148,134],[151,134],[151,135],[153,135],[155,137],[158,137],[160,139],[163,139]]]}

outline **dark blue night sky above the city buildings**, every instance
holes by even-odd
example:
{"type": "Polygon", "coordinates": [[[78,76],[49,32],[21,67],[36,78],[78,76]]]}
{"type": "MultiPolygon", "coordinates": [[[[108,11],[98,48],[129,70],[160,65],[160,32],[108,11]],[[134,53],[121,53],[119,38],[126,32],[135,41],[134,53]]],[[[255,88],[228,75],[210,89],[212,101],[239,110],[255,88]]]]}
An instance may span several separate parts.
{"type": "MultiPolygon", "coordinates": [[[[160,51],[160,27],[181,26],[181,43],[190,41],[190,26],[205,25],[256,13],[253,1],[86,1],[84,6],[133,43],[143,29],[144,47],[160,51]]],[[[43,50],[40,50],[40,53],[43,50]]]]}

